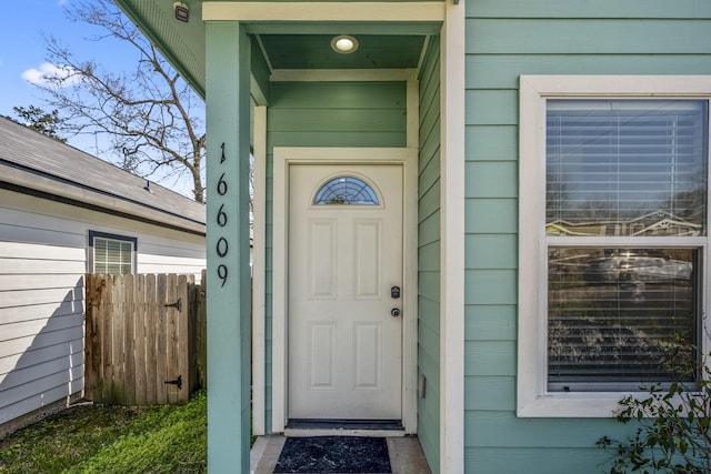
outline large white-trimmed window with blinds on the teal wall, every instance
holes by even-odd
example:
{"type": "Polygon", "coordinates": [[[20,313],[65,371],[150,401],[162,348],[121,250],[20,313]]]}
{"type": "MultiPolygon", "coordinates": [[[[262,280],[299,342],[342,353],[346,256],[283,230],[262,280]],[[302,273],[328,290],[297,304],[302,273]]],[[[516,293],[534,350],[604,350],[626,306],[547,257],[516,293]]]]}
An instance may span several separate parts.
{"type": "Polygon", "coordinates": [[[535,340],[520,341],[535,361],[519,373],[523,414],[669,382],[670,351],[693,360],[704,344],[709,101],[684,84],[651,97],[650,78],[638,93],[589,80],[609,95],[522,78],[522,139],[537,130],[533,152],[521,143],[519,337],[535,340]]]}

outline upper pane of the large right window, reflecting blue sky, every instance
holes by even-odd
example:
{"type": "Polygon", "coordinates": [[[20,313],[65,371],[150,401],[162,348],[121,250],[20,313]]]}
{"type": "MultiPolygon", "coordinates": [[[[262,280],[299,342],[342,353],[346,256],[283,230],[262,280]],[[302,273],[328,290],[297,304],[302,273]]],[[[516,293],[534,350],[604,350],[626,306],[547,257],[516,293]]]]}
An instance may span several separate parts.
{"type": "Polygon", "coordinates": [[[707,108],[549,100],[548,235],[705,235],[707,108]]]}

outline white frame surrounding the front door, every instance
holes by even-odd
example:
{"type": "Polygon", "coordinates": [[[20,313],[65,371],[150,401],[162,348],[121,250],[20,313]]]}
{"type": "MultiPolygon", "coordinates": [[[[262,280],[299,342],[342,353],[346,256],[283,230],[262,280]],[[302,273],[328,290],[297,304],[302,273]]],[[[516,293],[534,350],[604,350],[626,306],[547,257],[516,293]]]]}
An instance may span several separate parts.
{"type": "Polygon", "coordinates": [[[418,150],[413,148],[292,148],[273,149],[272,240],[272,433],[288,421],[289,321],[289,168],[293,164],[399,164],[403,170],[402,210],[402,425],[417,433],[418,371],[418,150]]]}

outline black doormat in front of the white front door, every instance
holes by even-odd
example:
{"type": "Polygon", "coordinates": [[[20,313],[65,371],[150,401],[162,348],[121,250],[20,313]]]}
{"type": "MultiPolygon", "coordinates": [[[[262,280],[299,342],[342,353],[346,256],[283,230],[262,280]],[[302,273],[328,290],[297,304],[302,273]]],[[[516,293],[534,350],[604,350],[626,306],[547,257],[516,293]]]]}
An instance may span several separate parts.
{"type": "Polygon", "coordinates": [[[274,473],[390,473],[384,437],[288,437],[274,473]]]}

